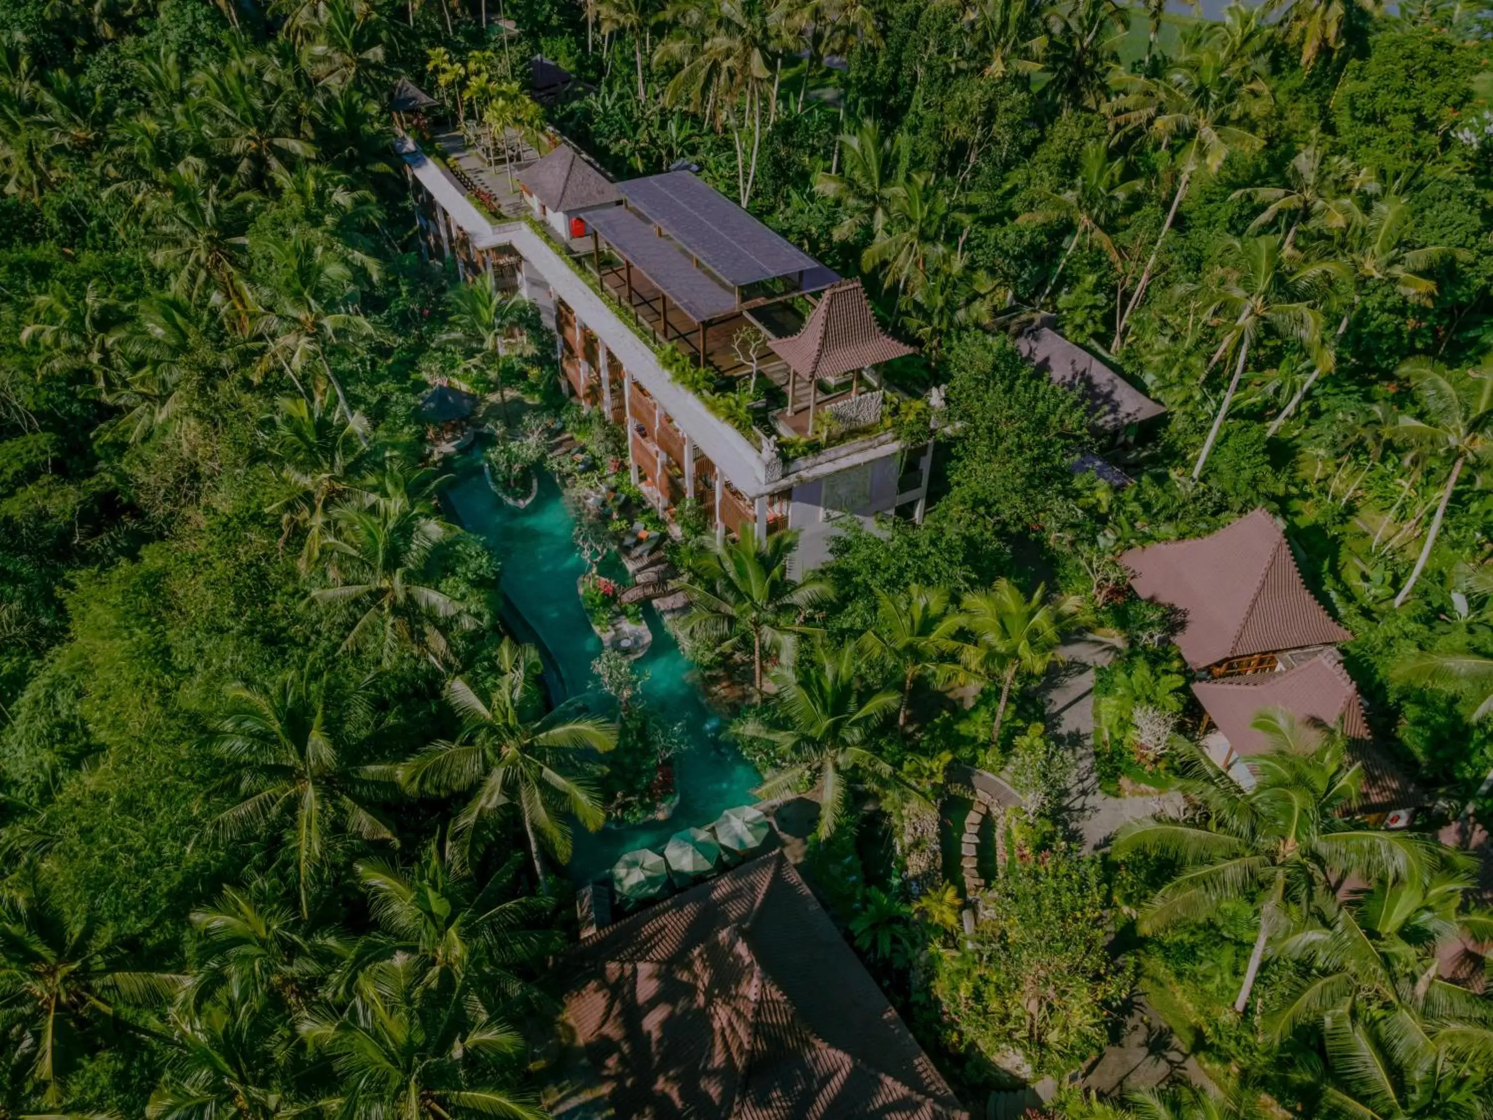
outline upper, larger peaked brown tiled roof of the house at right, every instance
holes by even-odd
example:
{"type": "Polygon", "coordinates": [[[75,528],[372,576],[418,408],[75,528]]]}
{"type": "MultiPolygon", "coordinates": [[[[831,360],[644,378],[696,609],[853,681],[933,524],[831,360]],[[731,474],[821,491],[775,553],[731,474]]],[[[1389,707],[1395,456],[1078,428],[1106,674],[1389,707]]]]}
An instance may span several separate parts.
{"type": "Polygon", "coordinates": [[[1132,548],[1120,563],[1136,594],[1187,612],[1176,645],[1194,669],[1353,638],[1306,590],[1285,535],[1263,509],[1196,541],[1132,548]]]}

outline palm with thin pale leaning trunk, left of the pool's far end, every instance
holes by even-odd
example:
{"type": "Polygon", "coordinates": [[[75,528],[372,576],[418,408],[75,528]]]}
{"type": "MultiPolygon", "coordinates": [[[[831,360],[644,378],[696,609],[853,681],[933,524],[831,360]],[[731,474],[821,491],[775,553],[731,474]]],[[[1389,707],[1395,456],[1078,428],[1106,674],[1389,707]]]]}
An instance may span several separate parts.
{"type": "MultiPolygon", "coordinates": [[[[352,270],[302,234],[272,243],[270,257],[276,278],[258,293],[261,311],[254,324],[266,342],[261,367],[279,363],[302,396],[308,396],[305,370],[320,370],[337,394],[343,420],[354,424],[352,406],[327,361],[328,351],[355,346],[357,339],[375,333],[373,324],[351,309],[352,270]]],[[[361,432],[358,439],[367,447],[361,432]]]]}

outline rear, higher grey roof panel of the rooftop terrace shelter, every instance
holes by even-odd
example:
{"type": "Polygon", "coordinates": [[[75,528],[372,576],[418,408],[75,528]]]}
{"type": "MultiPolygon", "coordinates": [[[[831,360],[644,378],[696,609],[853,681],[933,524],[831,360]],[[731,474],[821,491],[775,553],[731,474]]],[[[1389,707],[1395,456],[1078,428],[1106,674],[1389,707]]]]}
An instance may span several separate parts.
{"type": "Polygon", "coordinates": [[[738,287],[823,267],[690,172],[617,184],[648,221],[738,287]]]}

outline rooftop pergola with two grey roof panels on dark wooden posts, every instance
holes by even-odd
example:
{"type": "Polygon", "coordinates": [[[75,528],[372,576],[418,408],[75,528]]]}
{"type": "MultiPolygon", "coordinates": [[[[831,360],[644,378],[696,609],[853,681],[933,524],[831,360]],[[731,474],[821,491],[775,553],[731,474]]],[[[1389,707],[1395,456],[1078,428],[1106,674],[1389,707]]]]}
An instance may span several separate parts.
{"type": "Polygon", "coordinates": [[[638,321],[694,354],[700,369],[733,366],[712,360],[711,327],[839,279],[690,172],[617,187],[624,206],[587,215],[596,272],[638,321]],[[603,261],[603,243],[615,261],[603,261]]]}

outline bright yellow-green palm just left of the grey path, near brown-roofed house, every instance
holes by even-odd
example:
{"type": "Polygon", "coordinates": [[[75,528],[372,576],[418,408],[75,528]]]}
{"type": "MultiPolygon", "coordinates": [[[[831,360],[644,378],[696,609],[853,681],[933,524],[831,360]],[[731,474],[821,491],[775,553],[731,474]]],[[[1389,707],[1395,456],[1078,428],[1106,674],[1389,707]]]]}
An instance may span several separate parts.
{"type": "Polygon", "coordinates": [[[963,626],[973,635],[960,657],[964,668],[987,681],[1000,678],[1000,702],[990,729],[990,745],[1000,744],[1011,684],[1018,672],[1041,676],[1057,653],[1063,632],[1072,626],[1082,600],[1078,596],[1047,597],[1047,585],[1038,584],[1030,594],[1006,578],[996,579],[988,591],[973,591],[960,603],[963,626]]]}

